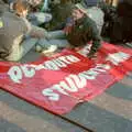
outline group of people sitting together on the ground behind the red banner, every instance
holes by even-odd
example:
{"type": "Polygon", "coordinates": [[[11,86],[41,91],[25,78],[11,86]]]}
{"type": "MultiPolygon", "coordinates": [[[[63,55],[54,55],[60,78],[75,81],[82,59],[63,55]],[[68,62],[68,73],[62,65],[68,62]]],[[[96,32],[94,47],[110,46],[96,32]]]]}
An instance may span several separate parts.
{"type": "MultiPolygon", "coordinates": [[[[87,56],[95,57],[101,47],[102,36],[113,32],[110,31],[111,23],[118,29],[123,26],[124,21],[121,24],[113,22],[116,18],[117,21],[123,20],[123,16],[117,16],[117,8],[107,1],[96,6],[87,1],[57,0],[45,4],[43,0],[0,0],[0,59],[18,62],[34,45],[36,52],[46,55],[58,48],[81,47],[88,42],[91,42],[91,48],[87,56]]],[[[130,31],[125,29],[125,32],[130,31]]],[[[122,40],[127,41],[121,36],[118,41],[122,40]]]]}

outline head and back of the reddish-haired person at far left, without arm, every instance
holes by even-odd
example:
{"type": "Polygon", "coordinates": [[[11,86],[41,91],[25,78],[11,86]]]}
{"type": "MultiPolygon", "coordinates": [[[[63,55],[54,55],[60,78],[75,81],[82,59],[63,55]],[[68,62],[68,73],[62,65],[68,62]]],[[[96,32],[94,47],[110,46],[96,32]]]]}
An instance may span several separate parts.
{"type": "Polygon", "coordinates": [[[18,0],[14,12],[4,11],[0,14],[0,54],[4,55],[1,56],[2,59],[18,61],[21,57],[20,44],[23,36],[30,32],[25,19],[28,7],[26,2],[18,0]]]}

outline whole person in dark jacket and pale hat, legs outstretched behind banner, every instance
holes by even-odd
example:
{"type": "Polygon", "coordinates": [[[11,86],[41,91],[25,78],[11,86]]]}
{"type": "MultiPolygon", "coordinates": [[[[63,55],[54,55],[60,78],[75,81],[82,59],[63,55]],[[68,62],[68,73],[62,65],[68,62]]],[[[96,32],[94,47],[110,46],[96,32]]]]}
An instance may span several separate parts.
{"type": "MultiPolygon", "coordinates": [[[[57,42],[54,41],[53,43],[51,43],[52,40],[50,40],[50,42],[47,42],[48,44],[42,40],[36,46],[36,51],[40,48],[40,51],[45,54],[47,51],[45,51],[46,45],[56,46],[56,48],[53,50],[54,52],[57,47],[76,48],[85,46],[89,41],[91,41],[91,48],[87,56],[89,58],[95,56],[101,46],[101,36],[99,35],[95,21],[87,15],[87,10],[80,3],[76,4],[72,12],[69,23],[67,23],[66,28],[57,34],[59,37],[64,36],[64,40],[58,40],[57,42]]],[[[51,46],[48,46],[48,52],[50,47],[51,46]]]]}

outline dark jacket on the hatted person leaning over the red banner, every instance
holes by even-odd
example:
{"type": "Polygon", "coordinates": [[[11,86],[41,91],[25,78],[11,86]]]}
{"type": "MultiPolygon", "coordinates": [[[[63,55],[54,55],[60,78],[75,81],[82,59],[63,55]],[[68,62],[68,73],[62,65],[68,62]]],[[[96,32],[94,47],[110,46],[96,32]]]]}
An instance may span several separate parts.
{"type": "Polygon", "coordinates": [[[101,44],[101,37],[99,35],[97,25],[95,21],[88,16],[84,16],[82,19],[76,21],[72,28],[72,32],[67,35],[67,40],[75,47],[84,46],[89,41],[92,41],[89,55],[94,55],[101,44]]]}

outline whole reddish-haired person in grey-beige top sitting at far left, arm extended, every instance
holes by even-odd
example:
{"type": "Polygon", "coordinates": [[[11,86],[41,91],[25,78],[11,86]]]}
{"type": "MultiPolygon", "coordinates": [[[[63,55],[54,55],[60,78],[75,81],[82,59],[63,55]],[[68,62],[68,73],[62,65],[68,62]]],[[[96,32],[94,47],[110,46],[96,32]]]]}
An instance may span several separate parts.
{"type": "Polygon", "coordinates": [[[14,13],[0,14],[0,58],[1,61],[21,59],[37,42],[40,37],[46,37],[44,29],[32,25],[26,20],[29,4],[19,0],[14,4],[14,13]],[[35,38],[26,38],[30,35],[35,38]]]}

